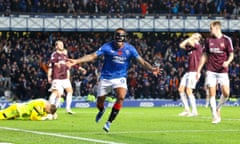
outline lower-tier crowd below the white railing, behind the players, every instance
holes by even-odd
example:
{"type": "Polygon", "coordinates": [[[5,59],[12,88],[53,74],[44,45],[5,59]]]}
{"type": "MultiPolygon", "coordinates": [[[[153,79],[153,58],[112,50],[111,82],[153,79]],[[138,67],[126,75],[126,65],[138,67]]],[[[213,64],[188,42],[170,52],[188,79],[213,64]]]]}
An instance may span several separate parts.
{"type": "MultiPolygon", "coordinates": [[[[207,33],[202,33],[204,37],[207,33]]],[[[189,33],[131,32],[128,42],[134,45],[148,62],[160,63],[163,69],[158,77],[131,62],[128,74],[129,99],[159,98],[177,100],[180,78],[187,67],[187,55],[179,43],[189,33]]],[[[231,97],[240,98],[240,34],[228,33],[234,44],[235,59],[230,64],[231,97]]],[[[46,70],[54,43],[61,39],[69,57],[78,58],[94,52],[103,43],[112,40],[111,32],[2,32],[0,40],[0,96],[12,92],[14,100],[48,98],[50,85],[46,70]]],[[[96,85],[102,67],[100,58],[82,65],[83,75],[71,69],[74,96],[96,95],[96,85]]],[[[204,71],[195,90],[197,98],[204,98],[204,71]]]]}

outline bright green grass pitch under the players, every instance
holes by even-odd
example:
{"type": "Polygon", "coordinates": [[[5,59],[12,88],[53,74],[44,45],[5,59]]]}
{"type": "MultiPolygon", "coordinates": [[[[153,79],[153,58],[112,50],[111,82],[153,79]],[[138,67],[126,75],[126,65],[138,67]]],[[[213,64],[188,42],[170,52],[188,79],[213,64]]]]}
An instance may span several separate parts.
{"type": "Polygon", "coordinates": [[[211,123],[210,108],[199,116],[179,117],[181,107],[123,107],[109,133],[103,131],[111,108],[95,123],[96,108],[58,110],[52,121],[0,121],[0,144],[239,144],[240,109],[223,107],[222,121],[211,123]]]}

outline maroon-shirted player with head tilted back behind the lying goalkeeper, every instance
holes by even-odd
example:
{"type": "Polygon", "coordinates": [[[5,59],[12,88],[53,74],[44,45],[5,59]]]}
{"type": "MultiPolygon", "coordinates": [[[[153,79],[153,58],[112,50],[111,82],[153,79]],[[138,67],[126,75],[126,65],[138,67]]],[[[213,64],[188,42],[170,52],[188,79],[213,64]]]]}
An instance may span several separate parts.
{"type": "MultiPolygon", "coordinates": [[[[48,68],[48,82],[51,83],[50,91],[52,92],[49,101],[51,104],[60,105],[60,98],[66,91],[66,111],[68,114],[73,114],[71,110],[73,88],[70,82],[70,70],[66,65],[68,61],[67,50],[64,48],[63,42],[58,40],[55,43],[56,51],[51,55],[48,68]]],[[[86,70],[78,67],[84,73],[86,70]]]]}

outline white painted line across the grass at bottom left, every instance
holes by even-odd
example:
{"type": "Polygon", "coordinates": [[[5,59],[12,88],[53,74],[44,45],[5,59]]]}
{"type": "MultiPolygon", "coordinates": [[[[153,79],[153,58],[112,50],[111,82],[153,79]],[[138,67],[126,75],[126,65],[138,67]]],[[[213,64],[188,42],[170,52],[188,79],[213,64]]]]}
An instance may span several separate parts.
{"type": "Polygon", "coordinates": [[[33,133],[33,134],[38,134],[38,135],[55,136],[55,137],[60,137],[60,138],[68,138],[68,139],[82,140],[82,141],[88,141],[88,142],[104,143],[104,144],[123,144],[123,143],[117,143],[117,142],[112,142],[112,141],[104,141],[104,140],[97,140],[97,139],[91,139],[91,138],[68,136],[68,135],[63,135],[63,134],[55,134],[55,133],[40,132],[40,131],[31,131],[31,130],[24,130],[24,129],[17,129],[17,128],[9,128],[9,127],[0,127],[0,129],[10,130],[10,131],[26,132],[26,133],[33,133]]]}

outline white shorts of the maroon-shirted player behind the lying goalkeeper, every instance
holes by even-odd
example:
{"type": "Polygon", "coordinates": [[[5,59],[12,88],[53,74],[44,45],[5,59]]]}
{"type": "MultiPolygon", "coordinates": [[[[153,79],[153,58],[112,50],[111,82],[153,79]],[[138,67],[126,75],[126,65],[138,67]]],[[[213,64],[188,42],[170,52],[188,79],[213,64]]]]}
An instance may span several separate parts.
{"type": "Polygon", "coordinates": [[[60,94],[63,94],[65,88],[72,88],[72,84],[69,79],[55,79],[52,81],[49,91],[57,90],[60,94]]]}

